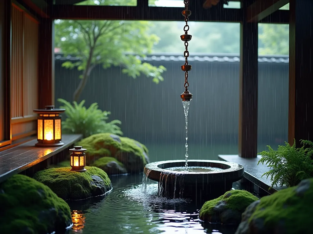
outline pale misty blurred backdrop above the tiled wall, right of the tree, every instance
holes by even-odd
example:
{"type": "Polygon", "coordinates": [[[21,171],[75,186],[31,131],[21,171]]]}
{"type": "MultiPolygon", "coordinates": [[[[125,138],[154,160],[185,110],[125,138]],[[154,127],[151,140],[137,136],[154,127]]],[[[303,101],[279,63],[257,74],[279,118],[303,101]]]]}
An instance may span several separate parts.
{"type": "MultiPolygon", "coordinates": [[[[192,41],[190,53],[239,53],[240,24],[224,22],[189,22],[192,41]]],[[[151,22],[151,33],[160,37],[159,43],[153,46],[155,52],[182,53],[183,42],[180,40],[184,22],[154,21],[151,22]]],[[[288,55],[289,25],[259,23],[259,54],[288,55]]]]}

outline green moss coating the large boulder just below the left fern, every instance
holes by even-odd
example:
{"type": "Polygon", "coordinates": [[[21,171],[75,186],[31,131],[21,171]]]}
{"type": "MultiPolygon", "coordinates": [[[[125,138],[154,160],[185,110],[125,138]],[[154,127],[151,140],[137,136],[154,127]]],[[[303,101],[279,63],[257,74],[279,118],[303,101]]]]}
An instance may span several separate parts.
{"type": "Polygon", "coordinates": [[[147,163],[148,149],[146,146],[127,137],[120,137],[110,133],[99,133],[82,139],[78,144],[87,149],[85,153],[89,163],[101,157],[111,156],[116,158],[118,152],[132,153],[141,158],[142,164],[145,165],[147,163]]]}

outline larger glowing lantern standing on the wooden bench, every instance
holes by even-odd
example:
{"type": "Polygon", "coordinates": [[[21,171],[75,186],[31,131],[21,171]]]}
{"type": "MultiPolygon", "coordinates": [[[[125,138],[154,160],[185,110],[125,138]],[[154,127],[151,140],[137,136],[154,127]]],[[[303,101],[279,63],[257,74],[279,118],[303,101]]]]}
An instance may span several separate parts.
{"type": "Polygon", "coordinates": [[[65,109],[54,109],[54,106],[45,106],[45,109],[36,109],[39,114],[37,124],[38,133],[35,144],[37,147],[55,147],[64,145],[61,142],[61,115],[65,109]]]}

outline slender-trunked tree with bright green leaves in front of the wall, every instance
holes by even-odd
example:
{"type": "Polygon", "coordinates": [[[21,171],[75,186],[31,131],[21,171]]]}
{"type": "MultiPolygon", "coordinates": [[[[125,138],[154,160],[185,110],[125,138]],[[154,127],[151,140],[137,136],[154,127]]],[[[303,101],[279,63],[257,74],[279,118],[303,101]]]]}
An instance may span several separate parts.
{"type": "MultiPolygon", "coordinates": [[[[132,6],[134,0],[88,0],[80,4],[132,6]]],[[[122,72],[133,78],[144,74],[156,84],[162,81],[162,73],[166,71],[164,66],[141,62],[141,58],[151,53],[153,45],[159,41],[155,34],[148,33],[150,27],[151,23],[146,21],[56,20],[55,46],[65,56],[80,58],[62,64],[82,71],[73,101],[79,100],[91,71],[99,64],[104,68],[121,66],[122,72]]]]}

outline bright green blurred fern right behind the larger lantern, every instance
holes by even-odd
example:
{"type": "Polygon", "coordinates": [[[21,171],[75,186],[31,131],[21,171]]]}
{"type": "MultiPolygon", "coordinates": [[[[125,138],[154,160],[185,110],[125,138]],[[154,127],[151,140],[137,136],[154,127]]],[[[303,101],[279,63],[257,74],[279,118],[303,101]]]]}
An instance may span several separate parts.
{"type": "Polygon", "coordinates": [[[58,101],[63,104],[60,108],[65,109],[66,119],[62,121],[62,131],[67,134],[83,134],[84,138],[96,133],[113,133],[115,135],[123,135],[120,120],[109,119],[110,111],[102,111],[98,109],[98,104],[95,102],[89,108],[84,106],[85,100],[79,104],[73,102],[73,105],[68,101],[59,98],[58,101]]]}

